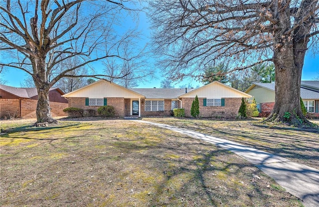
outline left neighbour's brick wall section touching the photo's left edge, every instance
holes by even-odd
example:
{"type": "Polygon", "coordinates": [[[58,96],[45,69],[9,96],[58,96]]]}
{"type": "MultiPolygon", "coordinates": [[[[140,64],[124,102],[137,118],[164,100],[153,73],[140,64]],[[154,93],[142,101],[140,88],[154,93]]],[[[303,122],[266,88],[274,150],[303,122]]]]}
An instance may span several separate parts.
{"type": "Polygon", "coordinates": [[[18,117],[20,115],[20,103],[19,99],[0,99],[0,117],[6,116],[7,119],[13,117],[18,117]]]}

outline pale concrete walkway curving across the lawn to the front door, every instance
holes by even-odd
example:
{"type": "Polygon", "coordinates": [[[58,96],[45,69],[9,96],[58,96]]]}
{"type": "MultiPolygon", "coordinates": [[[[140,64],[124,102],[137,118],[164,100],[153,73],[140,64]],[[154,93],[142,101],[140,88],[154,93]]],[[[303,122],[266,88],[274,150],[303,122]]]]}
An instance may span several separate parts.
{"type": "Polygon", "coordinates": [[[319,170],[316,168],[311,168],[292,162],[286,158],[199,132],[148,121],[138,120],[138,122],[169,129],[227,149],[254,164],[257,168],[273,178],[279,185],[284,187],[289,193],[300,198],[304,202],[305,207],[319,207],[319,170]]]}

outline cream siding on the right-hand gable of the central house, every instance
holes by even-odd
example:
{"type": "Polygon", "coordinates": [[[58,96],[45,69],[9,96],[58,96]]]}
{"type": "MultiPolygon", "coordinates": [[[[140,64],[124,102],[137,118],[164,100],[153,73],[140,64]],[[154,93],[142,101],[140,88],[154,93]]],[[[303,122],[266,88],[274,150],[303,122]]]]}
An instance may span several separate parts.
{"type": "Polygon", "coordinates": [[[244,92],[226,86],[219,82],[207,84],[201,88],[181,95],[183,98],[193,98],[195,96],[204,98],[249,98],[250,96],[244,92]]]}

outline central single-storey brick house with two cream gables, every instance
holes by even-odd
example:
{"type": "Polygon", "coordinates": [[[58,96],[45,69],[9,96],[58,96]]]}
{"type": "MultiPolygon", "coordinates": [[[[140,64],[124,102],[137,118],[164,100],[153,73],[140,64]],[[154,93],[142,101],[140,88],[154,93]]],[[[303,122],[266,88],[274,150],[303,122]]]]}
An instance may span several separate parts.
{"type": "Polygon", "coordinates": [[[69,100],[69,107],[97,110],[103,105],[114,106],[120,117],[169,116],[174,108],[184,108],[185,115],[190,117],[191,104],[196,95],[200,117],[220,118],[234,118],[238,114],[241,98],[251,97],[216,81],[197,89],[128,89],[105,80],[96,81],[63,97],[69,100]]]}

